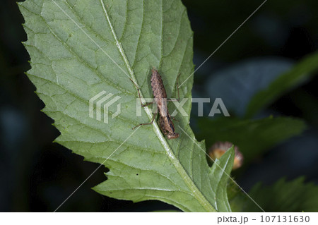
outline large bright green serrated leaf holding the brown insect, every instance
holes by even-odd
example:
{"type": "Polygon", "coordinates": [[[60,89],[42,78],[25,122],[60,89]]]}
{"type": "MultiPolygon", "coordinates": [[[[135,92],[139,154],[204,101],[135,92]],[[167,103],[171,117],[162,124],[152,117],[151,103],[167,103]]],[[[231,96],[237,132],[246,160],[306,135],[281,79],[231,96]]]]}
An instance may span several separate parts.
{"type": "MultiPolygon", "coordinates": [[[[143,97],[153,97],[153,66],[168,97],[176,96],[178,73],[181,83],[194,71],[193,32],[181,1],[26,0],[19,6],[31,56],[28,77],[61,132],[56,141],[110,169],[94,190],[134,202],[161,200],[187,212],[230,211],[226,176],[211,171],[189,117],[177,114],[175,140],[167,140],[157,123],[131,130],[153,116],[149,107],[136,116],[139,99],[131,80],[145,102],[143,97]],[[121,114],[107,124],[88,114],[90,98],[102,91],[121,97],[121,114]]],[[[180,97],[192,97],[192,83],[193,76],[180,97]]],[[[171,102],[168,108],[175,109],[171,102]]],[[[189,115],[191,101],[183,108],[189,115]]],[[[112,104],[109,116],[116,112],[112,104]]],[[[219,162],[228,172],[230,159],[229,153],[219,162]]]]}

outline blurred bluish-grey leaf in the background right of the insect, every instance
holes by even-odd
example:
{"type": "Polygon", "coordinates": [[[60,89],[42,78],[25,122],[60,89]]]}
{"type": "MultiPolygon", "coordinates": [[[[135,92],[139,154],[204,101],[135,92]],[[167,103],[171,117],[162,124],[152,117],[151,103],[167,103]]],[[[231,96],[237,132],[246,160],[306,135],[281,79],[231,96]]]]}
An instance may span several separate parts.
{"type": "Polygon", "coordinates": [[[292,66],[290,59],[278,57],[247,59],[213,73],[205,89],[211,99],[221,98],[232,114],[244,116],[252,97],[292,66]]]}

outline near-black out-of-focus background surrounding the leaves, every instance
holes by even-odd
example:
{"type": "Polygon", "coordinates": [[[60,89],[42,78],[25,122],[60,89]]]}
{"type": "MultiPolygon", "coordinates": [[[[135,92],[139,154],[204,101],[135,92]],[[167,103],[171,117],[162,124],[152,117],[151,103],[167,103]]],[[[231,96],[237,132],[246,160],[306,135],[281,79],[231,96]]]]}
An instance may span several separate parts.
{"type": "MultiPolygon", "coordinates": [[[[194,30],[194,63],[200,65],[262,1],[183,1],[194,30]]],[[[15,1],[0,10],[0,211],[52,212],[98,166],[52,141],[59,131],[40,110],[44,104],[24,75],[30,69],[23,17],[15,1]]],[[[194,92],[204,95],[205,80],[215,71],[243,59],[279,56],[298,61],[317,50],[317,1],[268,1],[197,72],[194,92]]],[[[317,62],[318,63],[318,62],[317,62]]],[[[318,78],[288,92],[269,109],[304,119],[302,135],[280,143],[255,159],[238,183],[249,190],[258,181],[271,184],[282,176],[306,176],[318,183],[318,78]],[[307,102],[312,107],[300,107],[307,102]],[[286,148],[290,149],[287,153],[286,148]],[[309,152],[309,153],[308,153],[309,152]],[[297,155],[297,158],[295,156],[297,155]],[[308,161],[307,159],[317,159],[308,161]],[[295,161],[297,160],[297,164],[295,161]]],[[[195,116],[192,118],[195,123],[195,116]]],[[[132,203],[95,193],[105,180],[99,169],[59,209],[60,212],[148,212],[173,209],[162,202],[132,203]]]]}

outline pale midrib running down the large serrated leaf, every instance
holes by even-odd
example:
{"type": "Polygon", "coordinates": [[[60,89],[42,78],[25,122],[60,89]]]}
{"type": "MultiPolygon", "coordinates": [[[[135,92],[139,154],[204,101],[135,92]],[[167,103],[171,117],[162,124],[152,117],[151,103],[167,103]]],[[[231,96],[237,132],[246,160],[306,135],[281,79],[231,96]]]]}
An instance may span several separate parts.
{"type": "MultiPolygon", "coordinates": [[[[138,85],[136,76],[134,75],[134,71],[132,70],[130,63],[128,59],[126,58],[126,54],[124,53],[124,49],[122,48],[122,44],[119,42],[116,33],[114,32],[114,28],[112,26],[112,23],[110,21],[110,17],[107,13],[107,10],[105,8],[105,4],[102,0],[100,0],[100,3],[102,4],[103,11],[105,13],[105,18],[107,20],[108,25],[110,25],[110,30],[112,31],[112,35],[115,39],[116,46],[119,50],[119,53],[122,55],[122,58],[124,59],[124,63],[126,65],[127,70],[129,71],[129,74],[131,75],[131,80],[138,85]]],[[[140,96],[141,96],[141,102],[142,104],[146,104],[146,100],[143,98],[143,94],[141,90],[139,90],[140,96]]],[[[149,107],[143,107],[144,111],[146,112],[148,119],[151,120],[153,117],[153,114],[151,113],[151,110],[149,107]]],[[[206,197],[201,194],[201,191],[196,187],[195,183],[192,181],[192,179],[187,174],[187,171],[183,168],[182,164],[180,164],[179,160],[175,157],[175,154],[173,154],[172,150],[170,149],[170,146],[167,144],[165,138],[163,137],[163,134],[160,131],[160,128],[158,127],[158,124],[154,121],[152,123],[153,129],[155,131],[155,135],[157,135],[158,139],[160,140],[161,145],[163,145],[163,148],[165,152],[167,152],[167,156],[169,157],[172,164],[175,166],[175,169],[177,169],[177,172],[181,176],[181,178],[184,180],[184,182],[187,184],[190,190],[192,190],[192,195],[198,200],[198,202],[204,207],[208,212],[216,212],[216,209],[213,208],[210,202],[206,200],[206,197]]]]}

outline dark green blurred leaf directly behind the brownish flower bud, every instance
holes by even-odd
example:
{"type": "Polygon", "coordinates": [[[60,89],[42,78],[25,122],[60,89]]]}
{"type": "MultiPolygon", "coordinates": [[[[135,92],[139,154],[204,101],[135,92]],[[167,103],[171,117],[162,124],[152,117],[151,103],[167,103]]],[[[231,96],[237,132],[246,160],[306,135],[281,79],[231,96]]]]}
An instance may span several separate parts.
{"type": "Polygon", "coordinates": [[[199,120],[198,138],[205,139],[210,147],[218,141],[229,141],[240,147],[245,164],[264,150],[305,130],[305,123],[300,119],[278,117],[258,120],[241,120],[220,117],[215,120],[199,120]]]}

